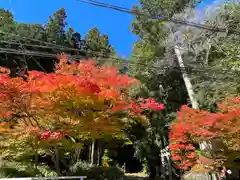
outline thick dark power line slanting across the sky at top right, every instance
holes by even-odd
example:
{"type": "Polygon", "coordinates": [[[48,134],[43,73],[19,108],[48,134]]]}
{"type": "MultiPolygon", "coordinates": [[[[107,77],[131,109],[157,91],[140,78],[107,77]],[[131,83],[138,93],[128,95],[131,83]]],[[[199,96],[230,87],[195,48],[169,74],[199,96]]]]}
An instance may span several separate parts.
{"type": "Polygon", "coordinates": [[[76,0],[76,1],[81,2],[81,3],[85,3],[85,4],[89,4],[89,5],[93,5],[93,6],[112,9],[112,10],[115,10],[115,11],[120,11],[120,12],[123,12],[123,13],[137,15],[137,16],[148,18],[148,19],[157,19],[157,20],[161,20],[161,21],[164,21],[164,22],[172,22],[172,23],[175,23],[175,24],[180,24],[180,25],[185,25],[185,26],[190,26],[190,27],[195,27],[195,28],[200,28],[200,29],[206,29],[206,30],[209,30],[209,31],[227,32],[229,34],[240,35],[239,31],[232,30],[232,29],[229,30],[229,29],[225,29],[225,28],[212,27],[212,26],[207,26],[207,25],[204,25],[204,24],[199,24],[199,23],[194,23],[194,22],[189,22],[189,21],[171,19],[171,18],[164,17],[164,16],[161,16],[161,15],[151,16],[151,15],[148,15],[148,14],[145,14],[145,13],[137,12],[136,10],[132,10],[132,9],[128,9],[128,8],[124,8],[124,7],[120,7],[120,6],[115,6],[115,5],[112,5],[112,4],[97,2],[97,1],[94,1],[94,0],[76,0]]]}

